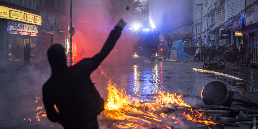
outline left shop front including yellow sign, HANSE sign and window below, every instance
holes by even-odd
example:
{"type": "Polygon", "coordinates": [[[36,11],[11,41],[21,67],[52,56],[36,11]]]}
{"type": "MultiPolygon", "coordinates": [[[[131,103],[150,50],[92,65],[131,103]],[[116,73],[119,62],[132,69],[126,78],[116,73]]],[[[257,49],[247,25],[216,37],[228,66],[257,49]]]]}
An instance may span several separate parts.
{"type": "Polygon", "coordinates": [[[14,69],[23,64],[23,48],[30,51],[30,62],[39,58],[39,26],[41,16],[24,10],[0,5],[1,69],[14,69]]]}

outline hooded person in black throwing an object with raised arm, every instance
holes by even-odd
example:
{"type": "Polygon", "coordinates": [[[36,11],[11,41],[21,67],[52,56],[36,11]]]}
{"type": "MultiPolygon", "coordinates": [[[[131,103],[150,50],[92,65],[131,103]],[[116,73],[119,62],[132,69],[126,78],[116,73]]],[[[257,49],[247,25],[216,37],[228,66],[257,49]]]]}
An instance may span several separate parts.
{"type": "Polygon", "coordinates": [[[52,75],[43,85],[42,92],[50,121],[60,123],[65,129],[98,129],[97,115],[104,110],[104,101],[92,84],[90,75],[113,49],[125,24],[120,19],[101,51],[72,67],[66,65],[62,45],[55,44],[49,48],[47,54],[52,75]]]}

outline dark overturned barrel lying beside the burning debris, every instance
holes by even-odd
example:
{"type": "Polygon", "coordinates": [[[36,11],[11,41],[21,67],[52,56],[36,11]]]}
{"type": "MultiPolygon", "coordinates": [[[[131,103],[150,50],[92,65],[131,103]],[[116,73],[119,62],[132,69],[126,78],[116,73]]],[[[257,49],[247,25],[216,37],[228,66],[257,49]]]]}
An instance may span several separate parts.
{"type": "Polygon", "coordinates": [[[228,84],[221,80],[214,80],[205,85],[202,91],[202,101],[206,105],[223,105],[230,107],[234,92],[229,90],[228,84]]]}

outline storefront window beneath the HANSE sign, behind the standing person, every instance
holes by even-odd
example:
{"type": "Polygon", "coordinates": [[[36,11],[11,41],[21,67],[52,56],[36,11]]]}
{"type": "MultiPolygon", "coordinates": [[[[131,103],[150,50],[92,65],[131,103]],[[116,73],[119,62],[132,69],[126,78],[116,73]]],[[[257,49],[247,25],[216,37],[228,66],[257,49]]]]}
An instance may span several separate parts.
{"type": "Polygon", "coordinates": [[[22,61],[23,60],[23,47],[26,43],[30,44],[33,50],[30,52],[31,59],[38,58],[39,47],[38,38],[32,36],[19,36],[9,35],[8,36],[8,58],[9,61],[22,61]]]}

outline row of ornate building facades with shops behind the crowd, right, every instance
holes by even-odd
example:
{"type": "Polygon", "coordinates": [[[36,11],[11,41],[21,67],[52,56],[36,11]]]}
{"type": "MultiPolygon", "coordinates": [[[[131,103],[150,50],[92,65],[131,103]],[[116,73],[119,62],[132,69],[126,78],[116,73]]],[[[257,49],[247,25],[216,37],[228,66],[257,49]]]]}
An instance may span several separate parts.
{"type": "Polygon", "coordinates": [[[258,63],[258,0],[194,0],[195,46],[243,44],[244,64],[258,63]],[[200,16],[201,15],[201,16],[200,16]],[[200,43],[199,39],[207,38],[200,43]],[[201,37],[201,38],[200,38],[201,37]]]}

